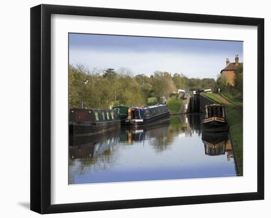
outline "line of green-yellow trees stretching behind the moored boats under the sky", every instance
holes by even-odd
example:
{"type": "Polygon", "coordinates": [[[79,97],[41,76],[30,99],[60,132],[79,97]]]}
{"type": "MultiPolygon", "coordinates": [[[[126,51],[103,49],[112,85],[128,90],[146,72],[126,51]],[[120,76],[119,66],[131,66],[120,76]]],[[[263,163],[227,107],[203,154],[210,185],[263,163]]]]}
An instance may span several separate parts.
{"type": "Polygon", "coordinates": [[[169,98],[178,89],[214,89],[214,79],[187,78],[183,74],[156,71],[150,77],[144,74],[133,76],[128,67],[106,70],[88,69],[82,64],[69,66],[69,106],[108,108],[120,105],[153,105],[160,97],[169,98]],[[157,99],[157,100],[154,100],[157,99]]]}

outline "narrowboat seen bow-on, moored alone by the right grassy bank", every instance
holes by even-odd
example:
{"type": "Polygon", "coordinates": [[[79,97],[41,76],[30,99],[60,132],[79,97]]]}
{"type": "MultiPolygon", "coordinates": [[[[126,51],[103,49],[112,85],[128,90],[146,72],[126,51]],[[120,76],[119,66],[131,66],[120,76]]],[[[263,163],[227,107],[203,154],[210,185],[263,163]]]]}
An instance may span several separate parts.
{"type": "Polygon", "coordinates": [[[204,108],[204,119],[202,130],[205,132],[228,131],[229,124],[226,118],[226,108],[220,104],[206,105],[204,108]]]}

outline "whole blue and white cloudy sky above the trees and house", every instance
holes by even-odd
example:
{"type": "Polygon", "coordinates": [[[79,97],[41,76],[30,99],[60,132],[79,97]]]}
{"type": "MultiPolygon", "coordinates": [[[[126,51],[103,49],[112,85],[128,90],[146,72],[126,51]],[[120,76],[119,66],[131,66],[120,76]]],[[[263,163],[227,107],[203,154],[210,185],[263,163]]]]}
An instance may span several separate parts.
{"type": "Polygon", "coordinates": [[[189,78],[217,78],[226,58],[243,62],[243,42],[69,33],[69,64],[89,69],[128,67],[133,75],[155,71],[189,78]]]}

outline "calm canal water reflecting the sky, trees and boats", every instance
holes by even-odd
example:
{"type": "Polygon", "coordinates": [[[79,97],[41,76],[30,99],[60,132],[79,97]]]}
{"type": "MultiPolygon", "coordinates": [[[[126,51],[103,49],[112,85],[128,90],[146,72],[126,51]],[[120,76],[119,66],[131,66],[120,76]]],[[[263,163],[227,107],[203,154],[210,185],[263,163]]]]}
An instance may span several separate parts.
{"type": "Polygon", "coordinates": [[[202,133],[201,114],[160,125],[70,137],[69,184],[236,176],[228,132],[202,133]]]}

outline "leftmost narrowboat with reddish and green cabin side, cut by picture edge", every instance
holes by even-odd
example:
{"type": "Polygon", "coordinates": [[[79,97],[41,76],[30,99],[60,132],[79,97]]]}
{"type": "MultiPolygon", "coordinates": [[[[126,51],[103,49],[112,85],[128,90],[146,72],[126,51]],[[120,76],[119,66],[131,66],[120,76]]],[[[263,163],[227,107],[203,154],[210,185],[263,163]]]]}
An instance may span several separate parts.
{"type": "Polygon", "coordinates": [[[79,109],[69,110],[69,135],[94,135],[120,127],[116,110],[79,109]]]}

